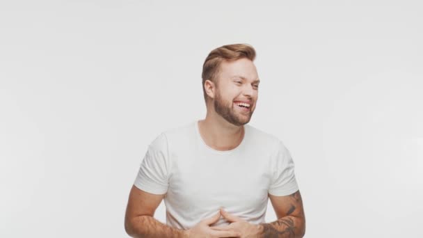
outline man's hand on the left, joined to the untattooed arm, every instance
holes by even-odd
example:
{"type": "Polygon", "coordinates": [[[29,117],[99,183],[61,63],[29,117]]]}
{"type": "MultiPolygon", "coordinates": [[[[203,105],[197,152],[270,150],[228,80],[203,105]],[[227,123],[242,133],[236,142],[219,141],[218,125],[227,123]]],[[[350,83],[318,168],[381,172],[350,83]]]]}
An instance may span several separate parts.
{"type": "Polygon", "coordinates": [[[218,237],[240,237],[240,233],[228,228],[228,226],[221,227],[222,230],[215,230],[210,227],[213,223],[216,223],[221,217],[221,212],[219,211],[216,215],[204,219],[197,223],[193,228],[185,230],[185,237],[207,237],[207,238],[218,238],[218,237]],[[225,228],[225,230],[223,230],[225,228]]]}

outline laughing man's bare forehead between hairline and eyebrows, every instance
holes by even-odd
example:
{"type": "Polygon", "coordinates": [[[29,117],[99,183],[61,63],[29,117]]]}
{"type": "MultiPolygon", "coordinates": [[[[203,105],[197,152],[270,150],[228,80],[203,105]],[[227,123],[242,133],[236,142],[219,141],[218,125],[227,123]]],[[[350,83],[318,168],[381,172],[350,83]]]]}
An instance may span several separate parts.
{"type": "Polygon", "coordinates": [[[257,69],[253,61],[248,58],[240,58],[236,61],[223,61],[220,67],[220,76],[223,79],[243,77],[251,81],[258,79],[257,69]]]}

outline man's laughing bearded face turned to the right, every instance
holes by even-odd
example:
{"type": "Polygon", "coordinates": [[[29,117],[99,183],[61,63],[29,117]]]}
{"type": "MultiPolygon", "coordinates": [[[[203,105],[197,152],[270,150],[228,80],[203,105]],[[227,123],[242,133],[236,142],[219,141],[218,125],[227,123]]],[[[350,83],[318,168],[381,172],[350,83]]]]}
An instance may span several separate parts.
{"type": "Polygon", "coordinates": [[[214,94],[214,110],[233,125],[247,124],[258,98],[257,69],[252,61],[241,58],[221,63],[214,94]]]}

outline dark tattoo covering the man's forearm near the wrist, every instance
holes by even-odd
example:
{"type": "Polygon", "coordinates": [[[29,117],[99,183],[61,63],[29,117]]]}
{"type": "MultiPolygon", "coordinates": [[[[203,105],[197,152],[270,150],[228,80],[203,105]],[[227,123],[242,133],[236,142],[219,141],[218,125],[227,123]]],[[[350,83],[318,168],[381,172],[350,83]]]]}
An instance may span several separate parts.
{"type": "Polygon", "coordinates": [[[295,237],[294,220],[291,217],[284,217],[273,223],[264,223],[263,237],[295,237]],[[276,229],[274,225],[278,225],[281,229],[276,229]],[[285,236],[287,235],[287,236],[285,236]]]}

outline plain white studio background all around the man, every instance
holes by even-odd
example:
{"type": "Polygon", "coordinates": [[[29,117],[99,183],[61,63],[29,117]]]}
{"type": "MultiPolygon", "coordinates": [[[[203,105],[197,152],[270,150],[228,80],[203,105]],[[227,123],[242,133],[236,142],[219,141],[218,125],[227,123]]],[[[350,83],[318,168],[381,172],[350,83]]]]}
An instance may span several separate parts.
{"type": "Polygon", "coordinates": [[[127,237],[147,145],[205,117],[202,63],[239,42],[305,237],[423,237],[422,5],[1,1],[0,237],[127,237]]]}

